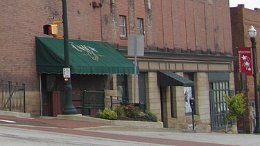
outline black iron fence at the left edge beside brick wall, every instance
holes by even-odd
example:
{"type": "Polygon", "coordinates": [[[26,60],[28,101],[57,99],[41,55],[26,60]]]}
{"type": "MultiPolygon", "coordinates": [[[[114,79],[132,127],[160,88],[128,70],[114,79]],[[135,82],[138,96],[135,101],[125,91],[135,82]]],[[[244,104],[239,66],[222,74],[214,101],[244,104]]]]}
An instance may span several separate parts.
{"type": "Polygon", "coordinates": [[[25,113],[25,84],[0,82],[0,109],[25,113]]]}

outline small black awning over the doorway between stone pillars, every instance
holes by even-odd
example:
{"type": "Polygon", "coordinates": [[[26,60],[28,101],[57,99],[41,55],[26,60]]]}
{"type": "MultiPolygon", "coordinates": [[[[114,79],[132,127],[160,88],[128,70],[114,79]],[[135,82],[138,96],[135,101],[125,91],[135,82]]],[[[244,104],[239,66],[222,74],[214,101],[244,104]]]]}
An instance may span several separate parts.
{"type": "Polygon", "coordinates": [[[158,71],[159,86],[194,86],[194,82],[171,71],[158,71]]]}

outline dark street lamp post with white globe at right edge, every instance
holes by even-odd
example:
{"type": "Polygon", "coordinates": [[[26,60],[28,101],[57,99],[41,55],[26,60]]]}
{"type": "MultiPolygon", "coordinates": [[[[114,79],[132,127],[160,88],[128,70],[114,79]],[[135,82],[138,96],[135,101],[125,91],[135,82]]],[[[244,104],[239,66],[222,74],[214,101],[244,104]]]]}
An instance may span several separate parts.
{"type": "Polygon", "coordinates": [[[254,69],[254,103],[255,103],[255,116],[256,116],[256,127],[254,128],[254,133],[260,133],[259,125],[259,100],[257,92],[257,57],[256,57],[256,42],[255,37],[257,36],[257,30],[254,29],[254,26],[251,26],[248,30],[250,40],[252,42],[252,55],[253,55],[253,69],[254,69]]]}

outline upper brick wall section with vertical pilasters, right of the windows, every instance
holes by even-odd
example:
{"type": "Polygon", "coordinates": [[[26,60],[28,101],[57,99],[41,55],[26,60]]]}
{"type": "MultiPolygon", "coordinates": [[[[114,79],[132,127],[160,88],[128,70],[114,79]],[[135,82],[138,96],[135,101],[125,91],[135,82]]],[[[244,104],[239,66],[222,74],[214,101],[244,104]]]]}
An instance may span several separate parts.
{"type": "Polygon", "coordinates": [[[151,11],[146,12],[147,45],[231,55],[230,16],[226,14],[227,0],[151,1],[151,11]]]}

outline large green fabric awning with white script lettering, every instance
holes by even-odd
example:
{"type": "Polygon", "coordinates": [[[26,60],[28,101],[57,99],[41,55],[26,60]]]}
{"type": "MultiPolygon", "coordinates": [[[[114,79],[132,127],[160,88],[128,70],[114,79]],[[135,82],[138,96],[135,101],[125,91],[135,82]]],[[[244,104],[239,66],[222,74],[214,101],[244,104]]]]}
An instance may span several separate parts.
{"type": "MultiPolygon", "coordinates": [[[[63,42],[63,39],[36,37],[37,73],[63,73],[63,42]]],[[[107,42],[69,39],[69,58],[71,74],[135,73],[135,65],[107,42]]]]}

